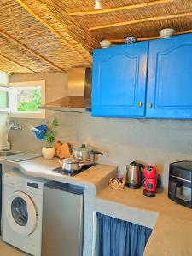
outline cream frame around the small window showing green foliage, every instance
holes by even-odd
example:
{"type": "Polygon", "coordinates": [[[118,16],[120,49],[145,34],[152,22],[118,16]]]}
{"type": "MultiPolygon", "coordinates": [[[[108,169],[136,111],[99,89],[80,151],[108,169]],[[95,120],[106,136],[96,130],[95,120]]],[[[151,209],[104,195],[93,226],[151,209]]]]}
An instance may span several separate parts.
{"type": "Polygon", "coordinates": [[[40,109],[41,113],[38,112],[25,112],[19,113],[13,112],[13,108],[11,109],[10,102],[13,98],[13,91],[11,92],[11,88],[22,88],[22,87],[41,87],[41,104],[45,104],[45,80],[36,80],[36,81],[25,81],[25,82],[13,82],[9,83],[9,116],[13,118],[34,118],[34,119],[45,119],[45,110],[40,109]]]}

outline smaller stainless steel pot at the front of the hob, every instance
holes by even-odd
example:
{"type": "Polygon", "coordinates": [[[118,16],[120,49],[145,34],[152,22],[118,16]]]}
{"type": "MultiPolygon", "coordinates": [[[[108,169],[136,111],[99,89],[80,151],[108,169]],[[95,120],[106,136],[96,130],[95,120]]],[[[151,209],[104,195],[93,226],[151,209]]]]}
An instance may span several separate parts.
{"type": "Polygon", "coordinates": [[[62,170],[66,172],[77,172],[80,171],[84,163],[79,160],[73,159],[73,158],[66,158],[59,160],[61,163],[62,170]]]}

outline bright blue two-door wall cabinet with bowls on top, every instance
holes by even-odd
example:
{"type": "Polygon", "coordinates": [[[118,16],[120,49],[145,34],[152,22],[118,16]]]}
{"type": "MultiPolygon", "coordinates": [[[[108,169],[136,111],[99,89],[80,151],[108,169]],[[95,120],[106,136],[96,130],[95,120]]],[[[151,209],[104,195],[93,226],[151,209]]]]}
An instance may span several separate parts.
{"type": "Polygon", "coordinates": [[[192,119],[192,34],[96,50],[92,109],[94,116],[192,119]]]}

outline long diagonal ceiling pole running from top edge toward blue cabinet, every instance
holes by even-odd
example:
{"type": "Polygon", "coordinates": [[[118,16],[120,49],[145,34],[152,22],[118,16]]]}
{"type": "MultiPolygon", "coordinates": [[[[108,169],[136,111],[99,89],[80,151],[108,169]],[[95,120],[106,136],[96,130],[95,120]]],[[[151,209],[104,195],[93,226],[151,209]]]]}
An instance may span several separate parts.
{"type": "Polygon", "coordinates": [[[79,53],[79,51],[78,51],[77,49],[75,49],[72,44],[69,44],[69,43],[67,42],[66,38],[64,38],[64,37],[61,35],[61,32],[58,32],[57,30],[55,30],[55,28],[54,28],[53,26],[49,25],[49,23],[48,23],[47,21],[45,21],[45,20],[42,19],[39,15],[37,15],[28,5],[26,5],[26,3],[24,3],[22,0],[16,0],[16,2],[17,2],[17,3],[20,3],[20,5],[21,5],[24,9],[26,9],[26,11],[27,11],[30,15],[32,15],[36,20],[38,20],[42,25],[46,26],[46,27],[49,29],[49,31],[51,31],[51,32],[53,32],[53,33],[55,34],[55,36],[56,36],[57,38],[60,38],[61,41],[62,41],[64,44],[66,44],[69,49],[71,49],[72,51],[76,52],[77,55],[79,55],[79,57],[82,58],[84,61],[90,63],[90,61],[84,59],[84,56],[83,56],[81,53],[79,53]]]}

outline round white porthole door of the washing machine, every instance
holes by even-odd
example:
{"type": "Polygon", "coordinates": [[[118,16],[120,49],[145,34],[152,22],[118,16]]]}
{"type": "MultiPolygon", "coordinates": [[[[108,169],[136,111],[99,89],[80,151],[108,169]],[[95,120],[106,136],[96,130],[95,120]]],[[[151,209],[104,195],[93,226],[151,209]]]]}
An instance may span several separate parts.
{"type": "Polygon", "coordinates": [[[10,227],[20,236],[28,236],[38,224],[38,212],[32,199],[21,191],[9,195],[6,217],[10,227]]]}

